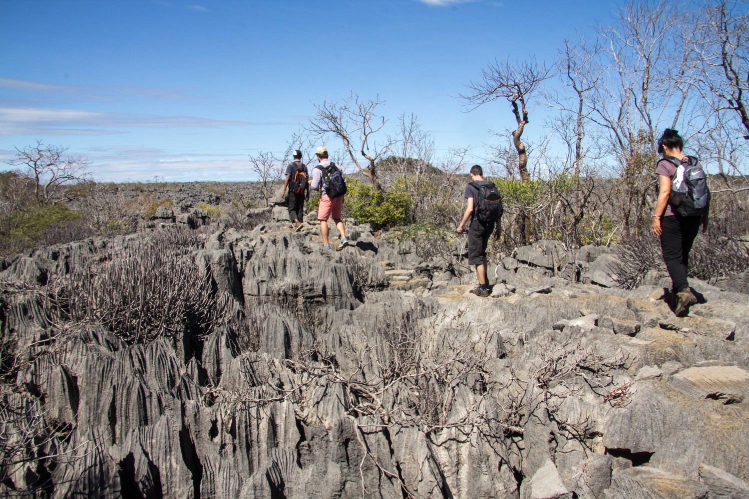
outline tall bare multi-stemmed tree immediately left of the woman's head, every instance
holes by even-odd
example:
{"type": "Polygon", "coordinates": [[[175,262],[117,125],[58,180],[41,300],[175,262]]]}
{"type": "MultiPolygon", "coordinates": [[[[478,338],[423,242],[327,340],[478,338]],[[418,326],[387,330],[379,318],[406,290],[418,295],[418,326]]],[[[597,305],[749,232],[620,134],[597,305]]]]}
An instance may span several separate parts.
{"type": "MultiPolygon", "coordinates": [[[[679,6],[663,0],[628,0],[613,22],[598,26],[596,67],[603,73],[590,91],[589,119],[616,163],[619,213],[625,235],[636,231],[652,203],[658,126],[679,123],[690,96],[675,83],[687,71],[685,43],[675,43],[679,6]]],[[[694,126],[687,138],[694,134],[694,126]]]]}

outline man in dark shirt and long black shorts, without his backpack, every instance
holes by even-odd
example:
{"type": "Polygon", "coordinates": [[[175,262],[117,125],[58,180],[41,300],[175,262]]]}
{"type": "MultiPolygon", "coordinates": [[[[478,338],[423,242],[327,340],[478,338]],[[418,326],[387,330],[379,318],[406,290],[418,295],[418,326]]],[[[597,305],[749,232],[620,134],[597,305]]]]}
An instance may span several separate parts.
{"type": "MultiPolygon", "coordinates": [[[[470,178],[476,185],[491,185],[491,182],[484,180],[484,171],[479,165],[471,167],[470,178]]],[[[489,296],[489,287],[486,281],[486,247],[489,244],[489,236],[494,231],[494,222],[482,224],[473,215],[478,197],[479,190],[468,184],[464,192],[464,198],[468,200],[468,204],[463,214],[463,220],[456,230],[458,233],[463,233],[464,226],[470,219],[468,225],[468,264],[476,266],[476,277],[479,278],[479,287],[476,290],[471,290],[471,293],[486,297],[489,296]]]]}

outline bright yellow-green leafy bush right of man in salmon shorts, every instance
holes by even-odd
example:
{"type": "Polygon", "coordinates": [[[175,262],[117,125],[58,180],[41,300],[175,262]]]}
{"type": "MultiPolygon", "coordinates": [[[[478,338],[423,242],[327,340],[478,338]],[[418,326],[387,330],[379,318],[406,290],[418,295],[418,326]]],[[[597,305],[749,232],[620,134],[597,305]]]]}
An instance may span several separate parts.
{"type": "Polygon", "coordinates": [[[344,209],[357,224],[372,224],[375,229],[401,225],[406,221],[411,198],[393,186],[384,194],[369,183],[348,179],[344,209]]]}

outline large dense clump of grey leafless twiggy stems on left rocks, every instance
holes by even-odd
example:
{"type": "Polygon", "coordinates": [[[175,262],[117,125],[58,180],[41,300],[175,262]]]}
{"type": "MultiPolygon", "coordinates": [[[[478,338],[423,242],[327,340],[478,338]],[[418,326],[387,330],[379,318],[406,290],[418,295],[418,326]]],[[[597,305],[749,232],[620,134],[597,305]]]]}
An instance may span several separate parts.
{"type": "Polygon", "coordinates": [[[181,230],[157,233],[48,284],[49,310],[61,322],[104,325],[125,343],[147,343],[206,331],[218,313],[210,275],[195,272],[185,249],[198,239],[181,230]]]}

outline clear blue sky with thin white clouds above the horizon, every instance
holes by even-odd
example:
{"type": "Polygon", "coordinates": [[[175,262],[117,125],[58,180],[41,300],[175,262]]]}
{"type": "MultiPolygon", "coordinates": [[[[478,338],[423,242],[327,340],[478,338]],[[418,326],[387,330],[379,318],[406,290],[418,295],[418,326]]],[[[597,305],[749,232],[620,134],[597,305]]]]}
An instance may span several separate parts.
{"type": "MultiPolygon", "coordinates": [[[[465,85],[494,58],[551,61],[613,8],[0,0],[0,163],[41,139],[88,157],[97,180],[252,180],[248,154],[283,153],[315,104],[352,90],[379,95],[390,123],[416,114],[438,153],[472,146],[480,161],[497,140],[489,130],[512,126],[512,114],[504,102],[466,112],[465,85]]],[[[539,132],[532,119],[528,138],[539,132]]]]}

